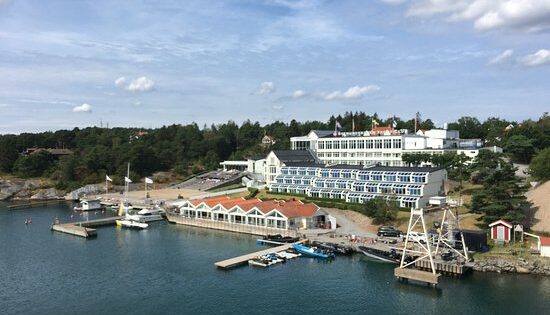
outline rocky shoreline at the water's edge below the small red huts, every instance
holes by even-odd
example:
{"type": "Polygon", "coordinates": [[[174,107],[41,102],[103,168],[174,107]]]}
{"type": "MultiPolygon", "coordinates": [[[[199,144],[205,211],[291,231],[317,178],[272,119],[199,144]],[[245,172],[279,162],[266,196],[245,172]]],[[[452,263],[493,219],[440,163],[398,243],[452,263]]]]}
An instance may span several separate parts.
{"type": "Polygon", "coordinates": [[[520,273],[550,276],[550,259],[484,257],[474,261],[473,269],[481,272],[520,273]]]}

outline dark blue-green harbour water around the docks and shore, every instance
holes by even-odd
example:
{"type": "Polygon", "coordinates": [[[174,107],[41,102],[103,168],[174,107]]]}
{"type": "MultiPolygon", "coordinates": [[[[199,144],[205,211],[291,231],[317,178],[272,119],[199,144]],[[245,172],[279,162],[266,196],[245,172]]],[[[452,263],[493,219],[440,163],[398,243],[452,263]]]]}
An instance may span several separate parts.
{"type": "Polygon", "coordinates": [[[68,206],[1,207],[1,314],[543,314],[550,307],[550,278],[476,273],[443,278],[436,290],[399,283],[392,265],[358,255],[223,271],[214,262],[257,250],[255,237],[159,222],[144,231],[99,228],[86,240],[50,231],[56,216],[71,220],[68,206]]]}

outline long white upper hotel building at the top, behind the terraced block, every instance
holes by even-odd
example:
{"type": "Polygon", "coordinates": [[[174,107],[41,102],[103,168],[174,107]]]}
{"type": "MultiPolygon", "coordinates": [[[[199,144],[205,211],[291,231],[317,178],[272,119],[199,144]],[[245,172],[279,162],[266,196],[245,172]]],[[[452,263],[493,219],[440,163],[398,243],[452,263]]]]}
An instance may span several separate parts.
{"type": "Polygon", "coordinates": [[[456,130],[432,129],[408,133],[391,127],[371,131],[337,132],[312,130],[308,135],[290,138],[292,150],[311,150],[327,164],[406,166],[405,153],[462,153],[475,157],[482,141],[460,139],[456,130]]]}

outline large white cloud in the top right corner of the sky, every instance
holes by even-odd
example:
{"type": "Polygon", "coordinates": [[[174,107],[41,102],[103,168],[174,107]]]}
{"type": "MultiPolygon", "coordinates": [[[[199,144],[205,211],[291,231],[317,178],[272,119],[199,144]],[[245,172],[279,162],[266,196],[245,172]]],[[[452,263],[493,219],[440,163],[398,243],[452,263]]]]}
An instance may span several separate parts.
{"type": "Polygon", "coordinates": [[[548,0],[416,0],[409,3],[408,16],[471,21],[479,31],[508,28],[538,32],[550,29],[548,0]]]}

